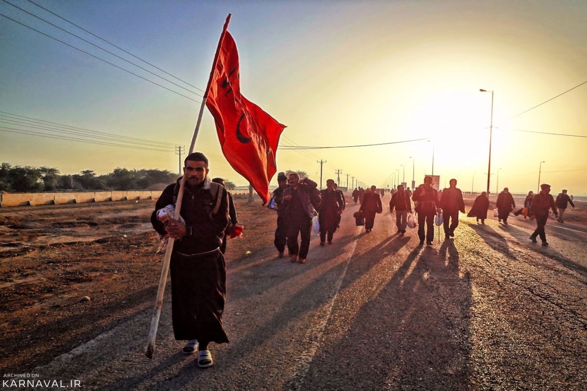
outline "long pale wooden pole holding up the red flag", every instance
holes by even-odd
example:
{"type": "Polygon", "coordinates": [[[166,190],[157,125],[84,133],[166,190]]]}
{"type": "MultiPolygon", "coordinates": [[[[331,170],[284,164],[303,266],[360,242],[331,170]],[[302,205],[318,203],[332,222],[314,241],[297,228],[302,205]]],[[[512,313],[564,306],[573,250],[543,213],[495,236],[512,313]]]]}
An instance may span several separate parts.
{"type": "MultiPolygon", "coordinates": [[[[208,78],[208,85],[206,86],[206,92],[204,93],[204,97],[202,98],[202,104],[200,106],[200,113],[198,113],[198,121],[195,124],[194,129],[194,136],[191,139],[190,145],[190,152],[188,155],[194,152],[195,147],[195,139],[198,137],[198,131],[200,130],[200,124],[202,123],[202,116],[204,114],[204,106],[206,104],[206,100],[208,98],[208,91],[210,91],[210,84],[212,83],[212,77],[214,76],[214,69],[216,68],[216,63],[218,61],[218,56],[220,54],[220,47],[222,45],[222,40],[224,39],[224,35],[226,30],[228,29],[228,22],[230,22],[231,14],[229,13],[226,22],[224,22],[224,27],[222,28],[222,33],[220,35],[220,40],[218,40],[218,47],[216,49],[216,54],[214,56],[214,61],[212,62],[212,70],[210,72],[210,77],[208,78]]],[[[176,212],[173,215],[174,220],[179,220],[180,218],[180,211],[181,211],[181,201],[183,200],[183,193],[185,187],[185,175],[181,178],[180,182],[180,189],[177,193],[177,202],[176,202],[176,212]]],[[[163,259],[163,268],[161,268],[161,277],[159,278],[159,287],[157,289],[157,298],[155,300],[155,308],[153,310],[153,318],[151,318],[151,328],[149,330],[149,339],[147,340],[147,347],[145,348],[145,355],[149,358],[153,358],[153,352],[155,349],[155,338],[157,336],[157,328],[159,327],[159,317],[161,316],[161,308],[163,308],[163,295],[165,293],[165,285],[167,283],[167,273],[169,271],[169,265],[171,263],[171,252],[173,251],[173,244],[175,243],[175,239],[170,237],[167,242],[167,249],[165,250],[165,257],[163,259]]]]}

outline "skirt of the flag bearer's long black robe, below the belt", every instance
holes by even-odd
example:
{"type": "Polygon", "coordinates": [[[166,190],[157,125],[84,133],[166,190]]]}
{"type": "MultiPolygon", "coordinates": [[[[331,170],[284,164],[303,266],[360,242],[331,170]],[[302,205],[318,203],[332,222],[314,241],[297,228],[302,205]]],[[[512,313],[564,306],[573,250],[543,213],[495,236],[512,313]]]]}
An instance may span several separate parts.
{"type": "Polygon", "coordinates": [[[222,328],[226,264],[220,251],[205,256],[171,253],[171,319],[177,340],[228,342],[222,328]]]}

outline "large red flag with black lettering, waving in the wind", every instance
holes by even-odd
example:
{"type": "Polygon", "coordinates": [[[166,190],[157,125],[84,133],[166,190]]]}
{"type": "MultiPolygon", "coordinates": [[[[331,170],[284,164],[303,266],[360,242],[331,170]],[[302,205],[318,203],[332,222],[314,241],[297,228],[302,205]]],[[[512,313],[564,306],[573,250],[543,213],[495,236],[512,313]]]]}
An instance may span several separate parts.
{"type": "Polygon", "coordinates": [[[277,171],[275,152],[285,125],[241,95],[237,45],[224,33],[211,74],[206,106],[214,117],[228,163],[251,182],[266,203],[277,171]]]}

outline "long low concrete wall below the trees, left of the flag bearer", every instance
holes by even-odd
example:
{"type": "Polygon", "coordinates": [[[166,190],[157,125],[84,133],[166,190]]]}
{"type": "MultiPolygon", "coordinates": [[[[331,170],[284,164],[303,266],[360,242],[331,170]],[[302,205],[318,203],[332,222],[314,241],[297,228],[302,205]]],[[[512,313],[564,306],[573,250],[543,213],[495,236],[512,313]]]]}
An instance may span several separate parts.
{"type": "Polygon", "coordinates": [[[0,194],[0,208],[5,208],[7,206],[48,205],[52,203],[60,204],[119,201],[126,199],[157,199],[160,196],[161,191],[0,194]]]}

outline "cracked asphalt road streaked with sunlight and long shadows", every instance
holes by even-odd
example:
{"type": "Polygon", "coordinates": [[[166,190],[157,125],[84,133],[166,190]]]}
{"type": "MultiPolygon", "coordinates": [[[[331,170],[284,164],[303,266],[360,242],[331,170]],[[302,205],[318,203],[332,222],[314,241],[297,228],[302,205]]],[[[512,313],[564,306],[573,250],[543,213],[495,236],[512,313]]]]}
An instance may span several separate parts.
{"type": "Polygon", "coordinates": [[[312,234],[306,264],[272,247],[228,261],[231,342],[211,368],[181,353],[167,294],[153,360],[149,306],[32,373],[85,390],[585,389],[584,229],[549,221],[543,248],[532,223],[461,215],[454,240],[420,246],[389,211],[365,233],[356,209],[332,245],[312,234]]]}

